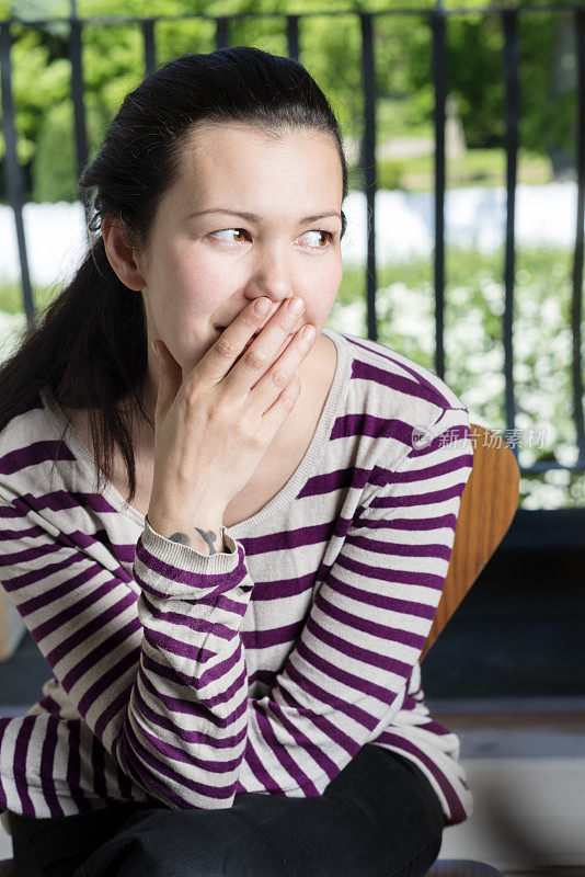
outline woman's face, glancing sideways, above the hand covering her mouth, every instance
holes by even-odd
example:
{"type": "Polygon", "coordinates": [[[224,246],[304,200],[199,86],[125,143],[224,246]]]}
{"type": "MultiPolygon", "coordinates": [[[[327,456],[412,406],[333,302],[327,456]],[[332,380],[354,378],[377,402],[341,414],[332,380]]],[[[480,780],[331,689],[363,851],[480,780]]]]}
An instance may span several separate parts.
{"type": "Polygon", "coordinates": [[[302,323],[319,335],[342,280],[342,187],[335,143],[313,129],[272,137],[221,123],[190,135],[148,250],[134,251],[152,383],[150,341],[164,341],[185,377],[219,338],[218,327],[260,296],[273,303],[262,324],[285,298],[301,296],[302,323]]]}

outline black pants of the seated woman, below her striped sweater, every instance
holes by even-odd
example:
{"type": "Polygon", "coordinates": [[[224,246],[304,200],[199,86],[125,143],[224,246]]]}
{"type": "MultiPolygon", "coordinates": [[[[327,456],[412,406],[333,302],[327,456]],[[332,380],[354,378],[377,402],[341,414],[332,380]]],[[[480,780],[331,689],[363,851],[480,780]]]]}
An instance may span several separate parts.
{"type": "Polygon", "coordinates": [[[423,877],[445,824],[422,771],[371,743],[319,798],[245,793],[220,810],[130,801],[9,818],[18,877],[423,877]]]}

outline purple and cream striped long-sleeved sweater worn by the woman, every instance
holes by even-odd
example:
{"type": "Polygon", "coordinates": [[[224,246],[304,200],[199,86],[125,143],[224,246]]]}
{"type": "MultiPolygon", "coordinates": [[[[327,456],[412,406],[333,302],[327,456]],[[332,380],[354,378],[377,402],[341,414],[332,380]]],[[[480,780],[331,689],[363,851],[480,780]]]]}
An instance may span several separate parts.
{"type": "Polygon", "coordinates": [[[376,743],[423,771],[446,825],[471,815],[418,662],[473,462],[469,414],[406,356],[323,333],[337,364],[310,446],[223,527],[223,553],[164,538],[110,482],[92,492],[93,457],[48,386],[0,432],[0,581],[54,673],[26,715],[0,719],[0,808],[320,796],[376,743]]]}

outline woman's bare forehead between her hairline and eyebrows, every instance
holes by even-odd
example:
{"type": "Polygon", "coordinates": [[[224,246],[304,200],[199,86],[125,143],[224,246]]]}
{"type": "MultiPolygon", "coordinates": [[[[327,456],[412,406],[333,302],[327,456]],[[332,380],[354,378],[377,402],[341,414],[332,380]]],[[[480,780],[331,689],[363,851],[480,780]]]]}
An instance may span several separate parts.
{"type": "Polygon", "coordinates": [[[339,207],[342,189],[332,135],[314,128],[272,133],[242,123],[202,123],[183,141],[173,201],[202,208],[237,203],[254,213],[259,202],[268,207],[287,198],[294,207],[302,200],[305,213],[311,213],[308,202],[317,208],[339,207]]]}

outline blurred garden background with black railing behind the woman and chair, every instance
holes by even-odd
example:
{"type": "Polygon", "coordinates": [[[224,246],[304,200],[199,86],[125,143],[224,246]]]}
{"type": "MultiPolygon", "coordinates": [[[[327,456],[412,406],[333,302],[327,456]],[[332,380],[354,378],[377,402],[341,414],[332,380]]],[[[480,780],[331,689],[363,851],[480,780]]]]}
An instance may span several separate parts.
{"type": "MultiPolygon", "coordinates": [[[[477,795],[440,857],[584,875],[585,5],[0,0],[0,358],[83,258],[77,180],[125,94],[229,45],[297,58],[340,121],[328,326],[433,369],[520,468],[509,531],[423,664],[477,795]]],[[[0,659],[19,715],[51,672],[1,589],[0,659]]]]}

